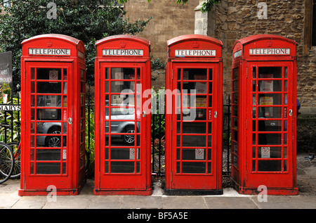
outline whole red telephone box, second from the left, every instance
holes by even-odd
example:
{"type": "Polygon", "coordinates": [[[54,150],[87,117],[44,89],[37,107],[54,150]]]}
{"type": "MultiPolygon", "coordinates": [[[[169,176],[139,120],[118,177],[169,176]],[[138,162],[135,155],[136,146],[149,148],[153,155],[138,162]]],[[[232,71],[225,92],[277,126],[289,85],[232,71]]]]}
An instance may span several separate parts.
{"type": "Polygon", "coordinates": [[[150,42],[96,42],[96,195],[150,195],[150,42]]]}

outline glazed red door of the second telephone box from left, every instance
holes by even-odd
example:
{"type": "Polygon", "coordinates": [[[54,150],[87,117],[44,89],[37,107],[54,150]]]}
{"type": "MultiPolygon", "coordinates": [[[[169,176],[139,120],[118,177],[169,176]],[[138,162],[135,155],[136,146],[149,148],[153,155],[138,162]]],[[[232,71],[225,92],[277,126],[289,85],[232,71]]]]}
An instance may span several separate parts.
{"type": "Polygon", "coordinates": [[[146,189],[144,78],[145,63],[100,63],[101,189],[146,189]]]}

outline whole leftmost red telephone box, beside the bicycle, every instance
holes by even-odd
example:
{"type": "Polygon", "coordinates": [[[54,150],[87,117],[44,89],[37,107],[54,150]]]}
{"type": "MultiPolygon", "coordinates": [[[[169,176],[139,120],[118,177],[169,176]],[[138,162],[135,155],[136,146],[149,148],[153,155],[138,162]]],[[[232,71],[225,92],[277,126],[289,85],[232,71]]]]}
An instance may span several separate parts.
{"type": "Polygon", "coordinates": [[[62,34],[22,42],[20,196],[76,195],[84,186],[84,52],[62,34]]]}

